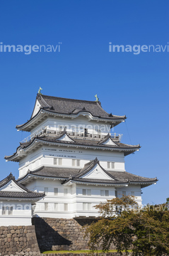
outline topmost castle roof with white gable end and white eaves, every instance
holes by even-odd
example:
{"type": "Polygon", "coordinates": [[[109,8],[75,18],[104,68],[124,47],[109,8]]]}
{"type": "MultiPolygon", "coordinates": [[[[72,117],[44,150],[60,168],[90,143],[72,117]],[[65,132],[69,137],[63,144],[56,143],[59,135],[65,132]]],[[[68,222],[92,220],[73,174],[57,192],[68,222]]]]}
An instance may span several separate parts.
{"type": "Polygon", "coordinates": [[[66,99],[62,97],[53,97],[47,95],[40,95],[37,93],[36,97],[37,101],[40,104],[38,112],[34,112],[28,120],[24,124],[17,125],[17,129],[23,129],[25,131],[30,131],[31,123],[34,122],[36,117],[40,116],[40,114],[59,114],[59,116],[66,115],[66,117],[77,117],[80,113],[90,114],[91,117],[95,117],[97,119],[107,119],[108,121],[115,121],[116,125],[126,119],[126,116],[118,116],[112,113],[107,113],[101,107],[100,102],[89,101],[89,100],[74,100],[74,99],[66,99]]]}

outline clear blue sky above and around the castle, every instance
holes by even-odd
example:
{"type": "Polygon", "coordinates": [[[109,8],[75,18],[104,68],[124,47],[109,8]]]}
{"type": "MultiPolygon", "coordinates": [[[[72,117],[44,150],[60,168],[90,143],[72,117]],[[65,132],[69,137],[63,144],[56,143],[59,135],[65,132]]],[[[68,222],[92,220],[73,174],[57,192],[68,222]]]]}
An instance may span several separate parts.
{"type": "Polygon", "coordinates": [[[4,156],[28,136],[15,127],[30,119],[40,86],[44,95],[81,100],[97,93],[107,112],[127,115],[115,127],[122,142],[141,144],[126,156],[126,170],[159,179],[143,189],[143,203],[163,203],[169,196],[168,32],[168,0],[1,1],[1,46],[60,45],[60,52],[0,52],[0,179],[10,172],[18,178],[18,163],[4,156]],[[110,53],[110,42],[165,51],[110,53]]]}

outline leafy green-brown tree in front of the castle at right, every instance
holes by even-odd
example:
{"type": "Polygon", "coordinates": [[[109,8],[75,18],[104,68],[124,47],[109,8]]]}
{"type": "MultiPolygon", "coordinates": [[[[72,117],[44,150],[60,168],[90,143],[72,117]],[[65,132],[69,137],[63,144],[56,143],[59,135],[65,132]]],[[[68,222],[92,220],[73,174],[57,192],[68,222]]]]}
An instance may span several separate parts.
{"type": "Polygon", "coordinates": [[[114,244],[122,255],[132,248],[132,255],[169,254],[169,214],[165,204],[139,209],[133,196],[122,196],[95,206],[100,218],[86,229],[88,245],[103,252],[114,244]]]}

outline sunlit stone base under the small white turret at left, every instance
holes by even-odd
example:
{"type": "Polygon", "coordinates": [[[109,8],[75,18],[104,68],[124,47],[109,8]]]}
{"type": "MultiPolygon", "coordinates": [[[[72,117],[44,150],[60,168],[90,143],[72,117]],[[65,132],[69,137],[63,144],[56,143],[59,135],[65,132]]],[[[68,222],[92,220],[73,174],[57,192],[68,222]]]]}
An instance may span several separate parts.
{"type": "Polygon", "coordinates": [[[0,227],[0,255],[40,255],[34,226],[0,227]]]}

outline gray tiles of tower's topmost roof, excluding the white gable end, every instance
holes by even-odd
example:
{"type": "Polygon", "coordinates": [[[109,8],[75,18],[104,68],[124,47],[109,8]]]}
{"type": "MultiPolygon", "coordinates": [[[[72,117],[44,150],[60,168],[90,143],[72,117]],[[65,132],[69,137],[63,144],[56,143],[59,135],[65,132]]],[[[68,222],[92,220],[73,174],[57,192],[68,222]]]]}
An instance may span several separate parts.
{"type": "MultiPolygon", "coordinates": [[[[93,117],[99,117],[103,119],[126,119],[126,116],[117,116],[112,113],[108,114],[101,107],[100,102],[88,101],[88,100],[74,100],[66,99],[62,97],[53,97],[47,95],[40,95],[37,93],[37,100],[42,106],[41,110],[47,110],[47,112],[54,112],[58,114],[70,114],[75,115],[79,112],[91,113],[93,117]]],[[[38,114],[38,113],[37,113],[38,114]]],[[[34,117],[32,116],[28,122],[34,117]]],[[[27,124],[28,122],[25,122],[27,124]]],[[[16,128],[21,128],[25,124],[17,125],[16,128]]]]}

